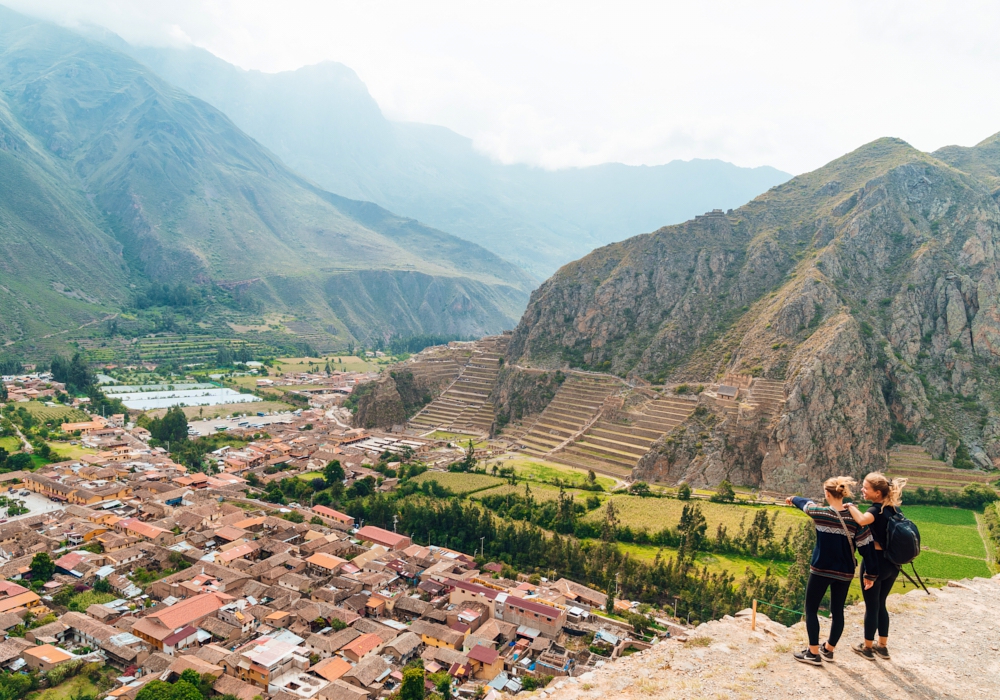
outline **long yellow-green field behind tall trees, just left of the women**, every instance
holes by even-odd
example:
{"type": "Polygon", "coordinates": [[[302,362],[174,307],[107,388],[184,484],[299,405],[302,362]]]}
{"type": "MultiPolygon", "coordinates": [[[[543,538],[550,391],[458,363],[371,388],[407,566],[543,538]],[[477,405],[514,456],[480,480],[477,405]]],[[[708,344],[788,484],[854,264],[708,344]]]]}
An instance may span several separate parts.
{"type": "MultiPolygon", "coordinates": [[[[639,496],[616,495],[612,496],[612,499],[618,508],[618,522],[622,527],[628,525],[633,530],[645,528],[649,532],[659,532],[665,527],[676,527],[686,503],[674,498],[639,496]]],[[[708,501],[688,501],[688,503],[697,503],[701,506],[708,523],[708,533],[713,536],[719,524],[725,525],[731,536],[739,531],[741,522],[749,527],[759,508],[766,509],[769,514],[778,513],[778,520],[774,526],[775,536],[778,539],[785,536],[788,528],[794,528],[808,518],[802,511],[788,506],[739,506],[708,501]]],[[[601,521],[604,519],[604,509],[591,511],[584,519],[601,521]]]]}

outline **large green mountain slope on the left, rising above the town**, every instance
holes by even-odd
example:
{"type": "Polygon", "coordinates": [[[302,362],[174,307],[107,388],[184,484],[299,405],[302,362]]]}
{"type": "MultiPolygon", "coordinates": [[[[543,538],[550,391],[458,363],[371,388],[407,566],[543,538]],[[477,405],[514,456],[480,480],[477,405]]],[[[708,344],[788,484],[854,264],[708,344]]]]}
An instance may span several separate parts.
{"type": "Polygon", "coordinates": [[[120,306],[130,284],[181,281],[236,289],[331,343],[471,335],[513,325],[533,286],[472,243],[322,190],[130,57],[2,9],[0,99],[23,164],[5,173],[3,215],[28,221],[20,240],[51,258],[24,258],[3,284],[31,308],[51,270],[92,307],[46,292],[53,328],[120,306]],[[15,178],[35,183],[39,202],[64,200],[80,240],[44,205],[19,214],[15,178]]]}

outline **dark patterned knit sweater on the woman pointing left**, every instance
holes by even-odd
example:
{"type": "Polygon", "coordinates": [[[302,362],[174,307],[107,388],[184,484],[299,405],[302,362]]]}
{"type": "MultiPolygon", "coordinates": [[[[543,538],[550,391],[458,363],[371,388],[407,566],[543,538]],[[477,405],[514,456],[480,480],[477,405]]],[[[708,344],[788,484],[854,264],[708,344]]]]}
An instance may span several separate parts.
{"type": "Polygon", "coordinates": [[[808,498],[800,497],[793,498],[792,505],[812,518],[816,526],[816,547],[813,549],[809,571],[817,576],[826,576],[838,581],[852,580],[857,567],[851,546],[853,540],[865,562],[865,578],[873,581],[878,578],[875,539],[867,527],[854,522],[846,508],[840,511],[840,514],[844,525],[847,526],[847,532],[844,531],[844,525],[840,524],[840,518],[830,506],[819,505],[808,498]]]}

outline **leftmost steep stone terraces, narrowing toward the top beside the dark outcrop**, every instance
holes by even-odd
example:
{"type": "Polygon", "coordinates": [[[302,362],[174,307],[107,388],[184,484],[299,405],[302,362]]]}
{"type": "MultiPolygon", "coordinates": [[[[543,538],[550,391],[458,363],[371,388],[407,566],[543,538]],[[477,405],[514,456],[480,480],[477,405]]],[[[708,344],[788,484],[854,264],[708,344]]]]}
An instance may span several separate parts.
{"type": "Polygon", "coordinates": [[[509,335],[477,341],[472,356],[455,381],[411,418],[409,427],[420,432],[447,430],[489,435],[495,417],[489,396],[509,342],[509,335]]]}

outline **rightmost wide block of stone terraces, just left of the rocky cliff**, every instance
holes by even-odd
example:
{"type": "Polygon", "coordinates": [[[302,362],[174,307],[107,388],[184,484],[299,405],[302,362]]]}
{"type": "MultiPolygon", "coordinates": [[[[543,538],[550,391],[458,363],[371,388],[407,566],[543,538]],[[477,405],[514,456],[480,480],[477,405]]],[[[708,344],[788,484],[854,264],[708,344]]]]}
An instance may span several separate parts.
{"type": "Polygon", "coordinates": [[[670,395],[653,399],[640,411],[611,411],[548,459],[627,478],[652,444],[687,420],[697,405],[696,399],[670,395]]]}

